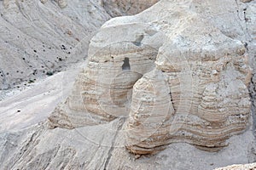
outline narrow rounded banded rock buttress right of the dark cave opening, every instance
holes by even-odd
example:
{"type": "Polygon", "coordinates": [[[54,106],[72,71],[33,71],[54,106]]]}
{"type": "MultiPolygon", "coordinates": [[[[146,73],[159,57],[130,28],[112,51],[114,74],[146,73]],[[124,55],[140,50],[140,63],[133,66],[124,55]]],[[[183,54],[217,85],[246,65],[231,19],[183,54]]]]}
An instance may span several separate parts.
{"type": "Polygon", "coordinates": [[[135,154],[152,154],[165,148],[172,126],[170,89],[161,71],[138,80],[132,92],[126,132],[126,148],[135,154]],[[169,90],[168,90],[169,89],[169,90]]]}

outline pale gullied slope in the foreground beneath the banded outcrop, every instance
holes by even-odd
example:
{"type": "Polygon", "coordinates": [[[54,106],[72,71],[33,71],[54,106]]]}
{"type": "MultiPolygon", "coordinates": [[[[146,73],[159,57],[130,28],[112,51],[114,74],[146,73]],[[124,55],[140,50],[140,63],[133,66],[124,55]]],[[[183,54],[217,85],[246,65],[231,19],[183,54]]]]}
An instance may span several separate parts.
{"type": "Polygon", "coordinates": [[[192,169],[212,170],[247,163],[247,131],[228,140],[218,153],[197,150],[190,144],[169,144],[154,156],[135,159],[123,144],[117,118],[100,126],[47,129],[44,125],[0,133],[0,169],[192,169]],[[245,140],[246,139],[246,140],[245,140]],[[3,151],[2,151],[3,150],[3,151]]]}

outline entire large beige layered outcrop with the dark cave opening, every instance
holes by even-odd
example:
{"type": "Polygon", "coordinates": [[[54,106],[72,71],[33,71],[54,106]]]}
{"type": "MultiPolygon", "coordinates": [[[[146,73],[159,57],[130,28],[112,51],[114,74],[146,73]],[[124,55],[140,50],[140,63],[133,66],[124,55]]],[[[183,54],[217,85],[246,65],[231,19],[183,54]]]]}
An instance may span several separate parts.
{"type": "Polygon", "coordinates": [[[237,15],[212,18],[223,8],[236,11],[236,4],[220,3],[162,0],[105,23],[49,126],[83,127],[125,116],[125,146],[139,155],[176,142],[211,151],[226,146],[249,122],[251,69],[247,48],[237,40],[242,30],[232,23],[237,15]]]}

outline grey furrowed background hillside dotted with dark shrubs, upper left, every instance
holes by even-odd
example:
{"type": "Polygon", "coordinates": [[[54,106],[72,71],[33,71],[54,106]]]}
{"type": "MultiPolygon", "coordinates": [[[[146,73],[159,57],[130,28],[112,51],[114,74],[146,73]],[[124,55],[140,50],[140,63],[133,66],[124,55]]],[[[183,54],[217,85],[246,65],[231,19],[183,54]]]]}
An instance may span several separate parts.
{"type": "Polygon", "coordinates": [[[0,90],[84,60],[90,38],[110,19],[97,1],[69,1],[61,9],[55,1],[7,0],[0,11],[0,90]]]}

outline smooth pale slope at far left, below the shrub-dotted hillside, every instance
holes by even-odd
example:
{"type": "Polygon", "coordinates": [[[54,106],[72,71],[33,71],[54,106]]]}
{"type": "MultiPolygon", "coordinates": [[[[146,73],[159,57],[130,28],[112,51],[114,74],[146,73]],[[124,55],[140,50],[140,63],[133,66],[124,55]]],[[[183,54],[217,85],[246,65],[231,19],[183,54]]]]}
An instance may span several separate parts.
{"type": "Polygon", "coordinates": [[[12,96],[0,101],[0,133],[20,130],[46,119],[55,106],[67,98],[80,69],[79,65],[75,65],[35,82],[21,92],[15,90],[12,96]]]}

